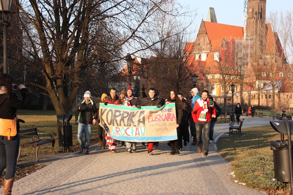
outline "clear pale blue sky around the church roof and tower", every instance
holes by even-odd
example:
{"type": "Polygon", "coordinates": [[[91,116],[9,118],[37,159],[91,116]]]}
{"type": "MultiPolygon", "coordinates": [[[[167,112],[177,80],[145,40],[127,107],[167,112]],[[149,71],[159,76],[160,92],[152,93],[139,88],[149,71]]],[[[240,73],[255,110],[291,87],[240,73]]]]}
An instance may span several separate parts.
{"type": "MultiPolygon", "coordinates": [[[[197,10],[197,16],[194,20],[193,27],[198,32],[200,22],[206,19],[209,7],[214,8],[217,22],[234,26],[243,26],[244,0],[179,0],[184,5],[190,5],[190,9],[197,10]]],[[[266,16],[270,11],[292,11],[292,0],[267,0],[266,16]]]]}

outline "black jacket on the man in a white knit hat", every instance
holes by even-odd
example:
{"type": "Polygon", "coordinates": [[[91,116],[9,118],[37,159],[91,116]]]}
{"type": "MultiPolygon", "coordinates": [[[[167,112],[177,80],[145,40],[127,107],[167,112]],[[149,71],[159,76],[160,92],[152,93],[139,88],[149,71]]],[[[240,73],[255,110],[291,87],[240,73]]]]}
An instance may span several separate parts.
{"type": "Polygon", "coordinates": [[[81,103],[81,102],[82,102],[82,100],[79,103],[77,103],[75,107],[72,108],[72,112],[77,112],[77,111],[81,112],[80,123],[92,124],[93,119],[97,119],[97,116],[98,116],[97,107],[96,107],[95,103],[86,104],[85,102],[84,103],[81,103]],[[80,107],[80,109],[79,109],[79,107],[80,107]]]}

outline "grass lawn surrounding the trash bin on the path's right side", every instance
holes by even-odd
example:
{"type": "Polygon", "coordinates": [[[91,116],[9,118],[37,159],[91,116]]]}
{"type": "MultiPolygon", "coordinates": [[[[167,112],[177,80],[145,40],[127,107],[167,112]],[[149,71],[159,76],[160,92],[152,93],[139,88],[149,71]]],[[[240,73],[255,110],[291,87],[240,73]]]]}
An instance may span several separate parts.
{"type": "MultiPolygon", "coordinates": [[[[243,137],[221,137],[218,152],[231,162],[235,179],[249,187],[265,190],[269,194],[290,194],[290,184],[274,181],[273,151],[270,141],[280,140],[271,126],[245,128],[243,137]]],[[[286,139],[286,136],[285,136],[286,139]]]]}

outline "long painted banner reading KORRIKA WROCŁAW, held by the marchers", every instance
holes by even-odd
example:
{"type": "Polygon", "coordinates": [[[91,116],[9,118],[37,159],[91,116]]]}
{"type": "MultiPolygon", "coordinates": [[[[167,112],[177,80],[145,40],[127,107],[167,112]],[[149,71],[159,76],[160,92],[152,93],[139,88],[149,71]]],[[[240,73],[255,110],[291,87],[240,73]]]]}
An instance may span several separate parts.
{"type": "Polygon", "coordinates": [[[177,139],[175,103],[141,109],[100,103],[100,126],[113,139],[162,142],[177,139]]]}

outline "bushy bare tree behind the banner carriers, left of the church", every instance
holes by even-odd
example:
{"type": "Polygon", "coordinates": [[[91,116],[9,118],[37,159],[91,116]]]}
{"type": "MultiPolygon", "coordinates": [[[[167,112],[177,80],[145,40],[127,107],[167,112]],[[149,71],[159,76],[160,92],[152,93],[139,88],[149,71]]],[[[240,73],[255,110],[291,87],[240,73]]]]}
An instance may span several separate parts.
{"type": "Polygon", "coordinates": [[[179,9],[174,9],[175,7],[175,2],[172,1],[162,7],[164,12],[157,12],[154,15],[155,33],[150,35],[150,39],[159,42],[149,45],[148,53],[145,55],[156,57],[149,58],[139,71],[143,73],[141,77],[145,79],[146,86],[155,87],[162,96],[169,95],[170,90],[189,95],[188,91],[192,86],[191,76],[197,68],[193,63],[194,57],[186,53],[186,43],[190,42],[190,33],[187,33],[187,29],[192,24],[196,11],[188,11],[182,6],[179,6],[179,9]],[[183,19],[183,16],[187,15],[191,18],[189,22],[177,19],[183,19]]]}

